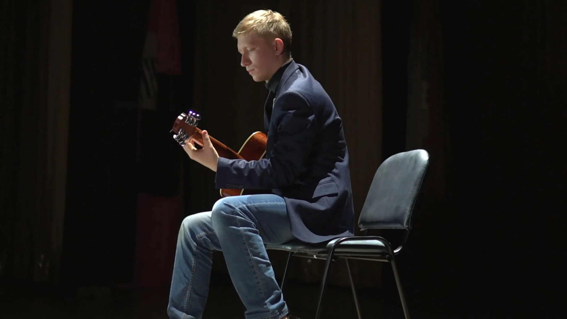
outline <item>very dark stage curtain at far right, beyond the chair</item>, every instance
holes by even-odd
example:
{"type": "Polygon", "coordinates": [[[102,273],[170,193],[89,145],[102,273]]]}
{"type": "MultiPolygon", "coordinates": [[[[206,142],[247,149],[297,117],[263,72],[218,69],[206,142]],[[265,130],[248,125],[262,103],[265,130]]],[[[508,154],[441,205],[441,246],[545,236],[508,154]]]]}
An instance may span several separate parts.
{"type": "Polygon", "coordinates": [[[567,171],[566,10],[414,1],[407,147],[432,161],[408,260],[418,295],[443,287],[456,303],[556,302],[547,292],[564,275],[555,243],[567,171]]]}

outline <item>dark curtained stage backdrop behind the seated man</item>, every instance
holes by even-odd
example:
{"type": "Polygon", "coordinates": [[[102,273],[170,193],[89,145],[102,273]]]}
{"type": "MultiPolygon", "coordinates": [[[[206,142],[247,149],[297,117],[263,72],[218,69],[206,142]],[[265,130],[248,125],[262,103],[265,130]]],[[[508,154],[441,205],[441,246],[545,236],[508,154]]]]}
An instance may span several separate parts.
{"type": "MultiPolygon", "coordinates": [[[[230,35],[263,8],[289,20],[293,57],[344,119],[357,211],[380,162],[431,155],[400,255],[410,303],[560,317],[559,1],[178,1],[181,74],[158,74],[155,110],[138,104],[150,1],[2,2],[3,295],[168,286],[180,221],[218,199],[214,174],[172,140],[172,120],[198,110],[200,127],[235,149],[262,128],[266,90],[242,72],[230,35]]],[[[285,255],[270,255],[281,275],[285,255]]],[[[320,266],[294,262],[291,279],[316,284],[320,266]]],[[[354,266],[359,287],[396,293],[389,267],[354,266]]],[[[348,287],[334,269],[331,284],[348,287]]]]}

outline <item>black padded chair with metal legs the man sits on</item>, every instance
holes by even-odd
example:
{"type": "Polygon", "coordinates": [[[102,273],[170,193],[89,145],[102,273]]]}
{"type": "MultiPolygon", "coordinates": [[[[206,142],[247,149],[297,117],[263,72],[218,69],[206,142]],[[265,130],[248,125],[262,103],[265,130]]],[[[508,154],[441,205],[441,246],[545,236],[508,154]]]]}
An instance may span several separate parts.
{"type": "Polygon", "coordinates": [[[425,150],[417,149],[395,154],[386,159],[378,167],[370,190],[366,195],[358,220],[358,227],[363,230],[370,229],[403,229],[403,239],[396,249],[392,249],[390,242],[381,236],[352,236],[335,238],[332,241],[318,245],[310,245],[304,242],[288,242],[282,245],[266,244],[268,250],[288,251],[284,278],[281,288],[284,288],[287,266],[291,256],[306,257],[314,259],[326,259],[323,279],[317,302],[315,319],[319,319],[321,300],[325,289],[325,280],[331,261],[344,259],[346,270],[349,275],[350,288],[352,288],[354,304],[358,318],[361,312],[358,305],[356,289],[352,274],[350,273],[349,259],[361,259],[377,262],[389,262],[396,280],[397,291],[400,295],[401,307],[406,319],[409,319],[408,307],[404,292],[401,287],[400,276],[395,262],[395,255],[399,254],[407,241],[409,230],[412,228],[412,211],[416,203],[425,172],[429,164],[429,154],[425,150]]]}

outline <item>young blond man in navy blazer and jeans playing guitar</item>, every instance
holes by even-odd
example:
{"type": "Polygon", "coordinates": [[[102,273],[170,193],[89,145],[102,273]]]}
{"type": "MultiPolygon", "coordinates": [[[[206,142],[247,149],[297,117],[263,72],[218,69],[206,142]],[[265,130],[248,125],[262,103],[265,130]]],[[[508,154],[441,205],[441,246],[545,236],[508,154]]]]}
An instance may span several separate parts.
{"type": "Polygon", "coordinates": [[[354,233],[342,121],[319,82],[291,58],[291,30],[281,14],[252,12],[232,34],[240,64],[269,90],[266,157],[219,158],[206,131],[202,149],[193,140],[184,149],[217,172],[217,188],[271,189],[273,194],[222,198],[212,211],[185,218],[167,312],[171,318],[201,318],[212,252],[221,250],[247,319],[291,319],[264,243],[318,243],[354,233]]]}

